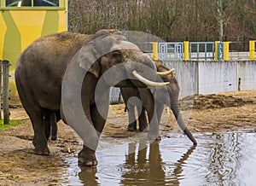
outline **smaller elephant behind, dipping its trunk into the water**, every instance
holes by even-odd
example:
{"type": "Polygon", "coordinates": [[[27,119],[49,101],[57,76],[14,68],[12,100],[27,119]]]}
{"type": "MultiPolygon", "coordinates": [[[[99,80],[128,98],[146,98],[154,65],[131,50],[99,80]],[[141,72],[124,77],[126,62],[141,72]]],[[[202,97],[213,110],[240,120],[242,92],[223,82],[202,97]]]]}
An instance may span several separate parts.
{"type": "MultiPolygon", "coordinates": [[[[157,71],[158,72],[166,72],[170,69],[165,67],[161,61],[154,61],[157,71]]],[[[175,118],[177,119],[177,124],[181,127],[184,133],[189,137],[189,139],[194,143],[197,144],[195,138],[192,136],[190,131],[188,130],[187,126],[183,122],[182,115],[179,110],[179,103],[178,103],[178,94],[179,94],[179,86],[177,84],[177,78],[175,75],[170,74],[166,77],[162,77],[164,82],[170,82],[169,85],[166,87],[160,87],[154,89],[153,94],[150,90],[143,89],[143,88],[136,88],[136,87],[122,87],[120,88],[121,94],[124,98],[125,107],[128,110],[128,119],[129,131],[136,131],[137,130],[137,120],[135,116],[135,107],[137,107],[138,111],[138,121],[139,121],[139,130],[144,131],[148,127],[149,123],[149,138],[152,134],[158,136],[157,139],[160,140],[159,136],[159,125],[161,115],[163,113],[164,105],[166,104],[169,108],[172,109],[172,113],[174,114],[175,118]],[[167,88],[167,91],[166,91],[167,88]],[[130,98],[137,97],[140,99],[141,102],[133,102],[130,98]],[[129,100],[129,102],[128,102],[129,100]],[[138,104],[139,103],[139,104],[138,104]],[[141,104],[140,104],[141,103],[141,104]],[[148,113],[148,122],[146,113],[148,113]]],[[[133,99],[134,100],[134,99],[133,99]]]]}

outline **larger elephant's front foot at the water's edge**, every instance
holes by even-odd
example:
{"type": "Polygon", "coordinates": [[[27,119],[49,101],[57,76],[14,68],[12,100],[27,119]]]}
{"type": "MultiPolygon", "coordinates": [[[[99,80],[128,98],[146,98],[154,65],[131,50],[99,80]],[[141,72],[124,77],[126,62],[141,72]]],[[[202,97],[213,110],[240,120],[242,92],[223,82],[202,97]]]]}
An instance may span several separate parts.
{"type": "Polygon", "coordinates": [[[96,160],[95,150],[84,148],[79,152],[79,166],[96,166],[98,161],[96,160]]]}

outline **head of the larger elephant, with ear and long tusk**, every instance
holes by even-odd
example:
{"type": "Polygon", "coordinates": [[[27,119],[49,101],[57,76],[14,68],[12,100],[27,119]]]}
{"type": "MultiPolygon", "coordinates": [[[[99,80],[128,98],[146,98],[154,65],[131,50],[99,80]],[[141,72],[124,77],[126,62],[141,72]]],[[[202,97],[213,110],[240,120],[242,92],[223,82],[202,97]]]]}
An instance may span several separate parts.
{"type": "Polygon", "coordinates": [[[79,67],[96,78],[103,75],[102,78],[111,86],[166,85],[153,82],[157,77],[154,61],[116,30],[96,32],[92,40],[79,50],[78,61],[79,67]]]}

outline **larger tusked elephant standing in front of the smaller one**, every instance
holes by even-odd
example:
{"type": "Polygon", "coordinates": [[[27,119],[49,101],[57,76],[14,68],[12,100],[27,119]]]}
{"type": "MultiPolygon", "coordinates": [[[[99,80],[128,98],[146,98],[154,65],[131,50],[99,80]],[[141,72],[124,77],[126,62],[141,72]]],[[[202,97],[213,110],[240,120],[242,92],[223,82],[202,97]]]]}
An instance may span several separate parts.
{"type": "Polygon", "coordinates": [[[36,154],[49,154],[50,125],[63,119],[84,141],[79,165],[96,166],[109,87],[164,85],[150,81],[155,72],[154,62],[116,30],[61,32],[33,42],[20,55],[15,82],[32,121],[36,154]]]}

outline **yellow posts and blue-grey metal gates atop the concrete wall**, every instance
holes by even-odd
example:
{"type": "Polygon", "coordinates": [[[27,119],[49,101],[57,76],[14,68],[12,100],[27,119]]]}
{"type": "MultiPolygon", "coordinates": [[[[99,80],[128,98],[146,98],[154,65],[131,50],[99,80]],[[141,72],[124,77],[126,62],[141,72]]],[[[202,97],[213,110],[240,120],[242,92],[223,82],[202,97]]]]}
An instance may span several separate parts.
{"type": "MultiPolygon", "coordinates": [[[[164,42],[151,43],[153,47],[153,60],[203,60],[203,61],[230,61],[230,41],[215,42],[164,42]],[[172,47],[170,47],[172,46],[172,47]]],[[[249,59],[255,60],[256,41],[249,41],[249,59]]],[[[230,57],[231,56],[231,57],[230,57]]],[[[247,60],[247,55],[243,60],[247,60]]],[[[234,59],[232,59],[234,60],[234,59]]]]}

